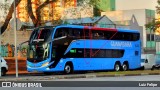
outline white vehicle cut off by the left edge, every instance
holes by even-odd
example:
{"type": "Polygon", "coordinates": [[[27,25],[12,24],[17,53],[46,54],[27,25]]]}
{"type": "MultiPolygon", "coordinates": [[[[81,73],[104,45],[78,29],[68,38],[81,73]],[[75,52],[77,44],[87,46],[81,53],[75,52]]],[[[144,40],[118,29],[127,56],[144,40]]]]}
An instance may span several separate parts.
{"type": "Polygon", "coordinates": [[[1,76],[5,76],[8,71],[8,65],[3,57],[0,57],[0,60],[1,60],[1,76]]]}

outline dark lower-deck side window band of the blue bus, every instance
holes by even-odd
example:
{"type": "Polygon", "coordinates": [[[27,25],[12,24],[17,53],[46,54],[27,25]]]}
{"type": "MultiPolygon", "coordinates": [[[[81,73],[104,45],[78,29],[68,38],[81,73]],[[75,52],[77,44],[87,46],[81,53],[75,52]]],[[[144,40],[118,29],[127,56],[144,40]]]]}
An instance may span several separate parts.
{"type": "Polygon", "coordinates": [[[118,49],[71,49],[65,57],[74,58],[120,58],[123,57],[124,50],[118,49]]]}

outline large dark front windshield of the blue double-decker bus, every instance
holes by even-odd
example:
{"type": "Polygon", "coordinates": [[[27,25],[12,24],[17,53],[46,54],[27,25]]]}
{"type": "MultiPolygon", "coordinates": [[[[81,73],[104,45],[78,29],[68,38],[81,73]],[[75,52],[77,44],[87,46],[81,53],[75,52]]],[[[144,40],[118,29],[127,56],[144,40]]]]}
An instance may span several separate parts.
{"type": "Polygon", "coordinates": [[[29,60],[39,60],[42,61],[49,56],[49,48],[51,40],[52,29],[35,29],[30,37],[29,49],[27,58],[29,60]]]}

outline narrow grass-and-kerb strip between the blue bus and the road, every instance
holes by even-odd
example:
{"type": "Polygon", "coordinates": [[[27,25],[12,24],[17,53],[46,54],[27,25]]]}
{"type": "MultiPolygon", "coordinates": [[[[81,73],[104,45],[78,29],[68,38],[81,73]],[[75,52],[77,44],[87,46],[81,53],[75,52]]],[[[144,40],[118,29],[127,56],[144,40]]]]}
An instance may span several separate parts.
{"type": "MultiPolygon", "coordinates": [[[[54,74],[54,75],[43,75],[42,73],[29,73],[27,71],[19,71],[19,74],[33,74],[31,76],[26,77],[18,77],[18,78],[0,78],[0,81],[37,81],[37,80],[55,80],[55,79],[74,79],[74,78],[97,78],[97,77],[122,77],[122,76],[143,76],[143,75],[160,75],[160,70],[145,70],[145,71],[123,71],[123,72],[92,72],[92,73],[84,73],[84,74],[54,74]]],[[[8,74],[15,74],[15,72],[9,72],[8,74]]]]}

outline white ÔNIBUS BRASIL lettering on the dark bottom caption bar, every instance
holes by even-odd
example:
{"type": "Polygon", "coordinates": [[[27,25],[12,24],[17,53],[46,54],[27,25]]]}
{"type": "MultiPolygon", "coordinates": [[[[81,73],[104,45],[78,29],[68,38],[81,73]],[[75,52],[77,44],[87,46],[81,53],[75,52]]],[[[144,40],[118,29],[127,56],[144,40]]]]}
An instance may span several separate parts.
{"type": "Polygon", "coordinates": [[[41,83],[17,83],[17,82],[12,82],[12,87],[42,87],[41,83]]]}

